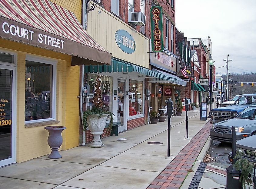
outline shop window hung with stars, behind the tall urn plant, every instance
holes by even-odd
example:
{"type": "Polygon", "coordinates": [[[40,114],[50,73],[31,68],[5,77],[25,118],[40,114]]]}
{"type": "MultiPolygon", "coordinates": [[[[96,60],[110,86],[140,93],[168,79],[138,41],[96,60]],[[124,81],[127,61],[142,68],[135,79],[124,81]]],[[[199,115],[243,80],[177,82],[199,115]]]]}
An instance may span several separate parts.
{"type": "MultiPolygon", "coordinates": [[[[87,74],[88,84],[90,85],[89,102],[87,103],[87,109],[91,109],[93,104],[93,94],[95,91],[97,74],[87,74]]],[[[102,109],[104,111],[112,112],[112,91],[113,91],[113,77],[100,75],[101,79],[101,99],[102,109]]]]}

